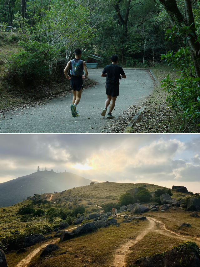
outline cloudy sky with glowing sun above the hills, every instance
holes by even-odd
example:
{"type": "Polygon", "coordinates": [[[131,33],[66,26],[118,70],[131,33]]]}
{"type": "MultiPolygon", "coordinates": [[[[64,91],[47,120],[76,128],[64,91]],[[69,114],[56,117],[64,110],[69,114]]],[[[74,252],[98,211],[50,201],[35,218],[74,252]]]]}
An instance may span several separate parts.
{"type": "Polygon", "coordinates": [[[200,134],[0,134],[0,182],[40,170],[200,192],[200,134]]]}

